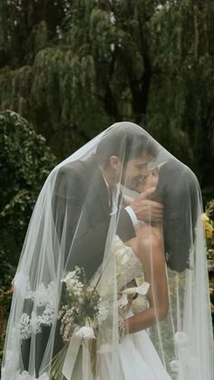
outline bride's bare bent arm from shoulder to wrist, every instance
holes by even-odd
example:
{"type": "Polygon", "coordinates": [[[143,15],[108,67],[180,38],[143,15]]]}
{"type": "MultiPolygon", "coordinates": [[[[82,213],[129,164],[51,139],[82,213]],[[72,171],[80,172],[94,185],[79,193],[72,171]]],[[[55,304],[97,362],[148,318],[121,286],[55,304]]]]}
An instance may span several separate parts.
{"type": "Polygon", "coordinates": [[[168,314],[169,297],[165,272],[165,256],[160,228],[143,226],[127,245],[140,258],[145,281],[151,284],[147,294],[150,307],[124,321],[125,331],[135,333],[152,326],[168,314]]]}

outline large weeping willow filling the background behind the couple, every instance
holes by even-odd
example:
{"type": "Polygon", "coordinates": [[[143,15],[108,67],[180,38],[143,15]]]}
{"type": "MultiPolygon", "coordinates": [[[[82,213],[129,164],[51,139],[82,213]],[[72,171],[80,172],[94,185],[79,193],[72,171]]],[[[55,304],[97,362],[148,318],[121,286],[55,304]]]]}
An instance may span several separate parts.
{"type": "Polygon", "coordinates": [[[213,0],[0,5],[0,106],[32,122],[59,158],[130,120],[203,187],[213,183],[213,0]]]}

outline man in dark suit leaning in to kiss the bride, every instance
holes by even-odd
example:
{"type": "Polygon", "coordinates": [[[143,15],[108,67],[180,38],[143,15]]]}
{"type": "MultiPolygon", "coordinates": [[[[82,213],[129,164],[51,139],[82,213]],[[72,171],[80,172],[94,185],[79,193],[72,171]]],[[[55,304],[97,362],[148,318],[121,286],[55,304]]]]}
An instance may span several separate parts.
{"type": "Polygon", "coordinates": [[[59,171],[53,219],[64,245],[67,270],[83,267],[87,277],[92,277],[102,263],[113,208],[117,209],[116,233],[123,242],[135,237],[138,219],[160,221],[163,206],[147,199],[154,189],[141,193],[128,207],[117,192],[119,183],[136,190],[156,156],[156,144],[139,127],[114,124],[104,133],[95,154],[59,171]]]}

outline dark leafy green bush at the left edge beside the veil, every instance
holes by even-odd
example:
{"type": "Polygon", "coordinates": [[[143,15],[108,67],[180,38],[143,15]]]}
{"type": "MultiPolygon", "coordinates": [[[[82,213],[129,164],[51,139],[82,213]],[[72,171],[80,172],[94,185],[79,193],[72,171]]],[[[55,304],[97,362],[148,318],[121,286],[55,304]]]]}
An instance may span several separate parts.
{"type": "Polygon", "coordinates": [[[15,112],[0,112],[0,254],[16,265],[34,202],[56,159],[15,112]]]}

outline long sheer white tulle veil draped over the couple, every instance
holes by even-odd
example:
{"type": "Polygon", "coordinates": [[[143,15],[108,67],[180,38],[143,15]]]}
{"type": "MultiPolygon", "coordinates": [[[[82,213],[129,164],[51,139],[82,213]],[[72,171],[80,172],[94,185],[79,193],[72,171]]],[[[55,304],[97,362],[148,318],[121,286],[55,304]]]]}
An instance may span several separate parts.
{"type": "MultiPolygon", "coordinates": [[[[153,145],[156,151],[149,168],[159,169],[155,197],[164,205],[162,234],[169,296],[167,317],[160,320],[157,313],[146,332],[171,379],[213,380],[213,336],[199,183],[187,166],[131,122],[113,124],[56,166],[44,183],[15,274],[3,380],[59,380],[66,378],[66,371],[76,380],[71,368],[80,360],[80,352],[80,378],[102,380],[106,356],[109,378],[123,378],[119,293],[124,289],[124,278],[130,282],[131,261],[127,256],[123,262],[121,248],[116,256],[112,243],[118,237],[119,245],[125,240],[118,233],[125,196],[138,196],[134,191],[130,193],[122,178],[124,158],[134,151],[136,135],[137,140],[142,138],[146,149],[153,145]],[[102,151],[114,154],[118,135],[122,165],[110,206],[97,155],[99,152],[102,161],[102,151]],[[86,307],[83,295],[88,297],[91,308],[86,307]],[[70,318],[66,319],[66,312],[71,313],[70,318]],[[66,362],[69,350],[72,356],[66,362]]],[[[147,228],[154,227],[152,220],[146,224],[147,228]]],[[[154,256],[151,251],[151,268],[154,256]]],[[[125,288],[134,287],[138,294],[138,284],[139,288],[144,284],[140,279],[141,273],[136,273],[131,278],[132,285],[125,288]]],[[[152,287],[152,278],[149,286],[152,287]]],[[[138,297],[135,294],[131,298],[131,315],[145,307],[145,297],[140,293],[139,290],[138,297]]],[[[124,294],[120,302],[127,300],[124,294]]],[[[154,300],[156,297],[153,294],[154,300]]],[[[129,339],[131,335],[126,336],[127,344],[129,339]]],[[[144,379],[143,374],[141,378],[144,379]]]]}

